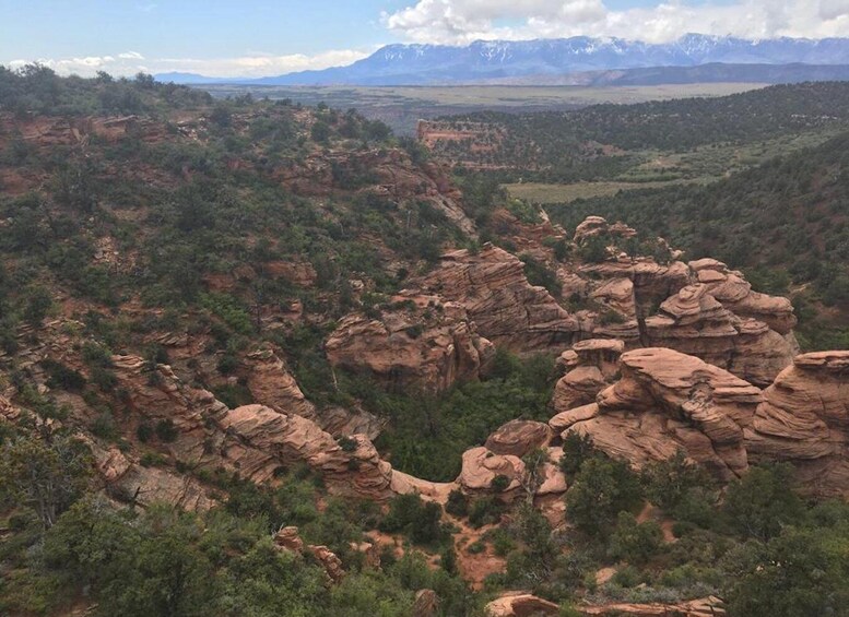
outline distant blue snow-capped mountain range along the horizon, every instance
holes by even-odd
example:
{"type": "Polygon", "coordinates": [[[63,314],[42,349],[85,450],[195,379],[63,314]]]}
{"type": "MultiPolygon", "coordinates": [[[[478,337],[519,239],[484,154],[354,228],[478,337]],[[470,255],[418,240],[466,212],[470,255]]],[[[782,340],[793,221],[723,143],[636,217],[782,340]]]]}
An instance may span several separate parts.
{"type": "MultiPolygon", "coordinates": [[[[164,73],[156,78],[176,83],[251,85],[446,85],[493,80],[546,83],[553,78],[575,73],[704,64],[745,66],[748,69],[739,69],[738,72],[745,72],[750,80],[769,73],[766,69],[752,67],[787,64],[797,66],[794,72],[802,80],[839,79],[832,76],[829,70],[805,67],[849,64],[849,38],[746,40],[687,34],[667,44],[585,36],[516,41],[479,40],[464,47],[397,44],[382,47],[368,58],[347,67],[320,71],[260,79],[205,78],[194,73],[164,73]],[[821,74],[825,72],[826,76],[806,76],[807,72],[817,71],[821,74]]],[[[740,81],[733,73],[732,70],[728,78],[740,81]]],[[[679,79],[689,78],[680,73],[679,79]]],[[[775,79],[774,75],[773,81],[775,79]]]]}

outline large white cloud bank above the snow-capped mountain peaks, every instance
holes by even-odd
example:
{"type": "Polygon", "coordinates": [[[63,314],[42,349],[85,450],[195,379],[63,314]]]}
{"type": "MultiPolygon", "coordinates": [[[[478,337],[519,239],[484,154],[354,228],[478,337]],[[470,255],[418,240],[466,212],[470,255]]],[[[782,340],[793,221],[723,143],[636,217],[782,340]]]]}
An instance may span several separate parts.
{"type": "Polygon", "coordinates": [[[579,35],[667,43],[688,32],[822,38],[849,36],[849,0],[664,0],[627,10],[603,0],[417,0],[381,22],[408,40],[448,45],[579,35]]]}

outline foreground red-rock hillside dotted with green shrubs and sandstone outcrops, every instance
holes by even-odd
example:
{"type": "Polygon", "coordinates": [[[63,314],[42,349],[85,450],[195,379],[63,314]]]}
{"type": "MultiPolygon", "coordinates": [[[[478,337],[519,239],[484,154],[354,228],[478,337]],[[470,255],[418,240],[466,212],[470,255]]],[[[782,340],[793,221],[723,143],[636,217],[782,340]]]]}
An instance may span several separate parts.
{"type": "Polygon", "coordinates": [[[0,614],[847,606],[849,353],[787,298],[355,111],[0,93],[0,614]]]}

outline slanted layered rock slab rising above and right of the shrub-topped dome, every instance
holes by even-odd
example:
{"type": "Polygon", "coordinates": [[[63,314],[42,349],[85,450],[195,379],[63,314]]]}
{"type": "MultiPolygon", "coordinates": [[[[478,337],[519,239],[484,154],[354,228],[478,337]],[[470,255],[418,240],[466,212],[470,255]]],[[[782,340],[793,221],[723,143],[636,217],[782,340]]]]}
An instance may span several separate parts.
{"type": "Polygon", "coordinates": [[[421,285],[464,306],[483,336],[517,353],[563,348],[585,328],[545,288],[528,283],[518,258],[488,244],[477,253],[444,254],[421,285]]]}

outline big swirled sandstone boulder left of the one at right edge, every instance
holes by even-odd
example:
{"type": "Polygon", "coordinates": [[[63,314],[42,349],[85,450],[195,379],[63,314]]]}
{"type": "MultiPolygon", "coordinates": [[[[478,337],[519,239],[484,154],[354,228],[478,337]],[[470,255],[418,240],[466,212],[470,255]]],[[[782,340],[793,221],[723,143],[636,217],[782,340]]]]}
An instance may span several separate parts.
{"type": "Polygon", "coordinates": [[[628,352],[621,366],[622,379],[599,395],[597,407],[565,412],[552,427],[588,434],[637,467],[682,449],[721,479],[745,472],[743,430],[763,400],[758,388],[667,348],[628,352]]]}

